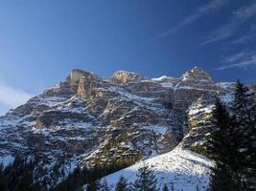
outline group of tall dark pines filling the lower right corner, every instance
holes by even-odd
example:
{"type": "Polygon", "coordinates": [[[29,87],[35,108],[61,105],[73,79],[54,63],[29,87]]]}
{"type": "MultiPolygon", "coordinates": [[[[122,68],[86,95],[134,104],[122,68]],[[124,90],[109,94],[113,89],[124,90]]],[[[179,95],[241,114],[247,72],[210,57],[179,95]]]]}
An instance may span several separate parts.
{"type": "Polygon", "coordinates": [[[256,190],[256,101],[240,81],[229,106],[217,99],[216,128],[209,137],[207,154],[215,160],[210,190],[256,190]]]}

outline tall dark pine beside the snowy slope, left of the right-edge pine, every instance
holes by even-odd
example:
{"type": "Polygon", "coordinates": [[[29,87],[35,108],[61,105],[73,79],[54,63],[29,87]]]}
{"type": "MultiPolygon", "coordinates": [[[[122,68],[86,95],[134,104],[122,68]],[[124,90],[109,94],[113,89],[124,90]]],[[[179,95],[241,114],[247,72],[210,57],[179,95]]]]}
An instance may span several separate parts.
{"type": "Polygon", "coordinates": [[[240,168],[241,156],[239,151],[239,135],[235,130],[236,122],[230,117],[226,107],[217,99],[213,112],[216,128],[211,134],[208,152],[215,160],[212,169],[210,190],[240,191],[241,182],[237,169],[240,168]]]}

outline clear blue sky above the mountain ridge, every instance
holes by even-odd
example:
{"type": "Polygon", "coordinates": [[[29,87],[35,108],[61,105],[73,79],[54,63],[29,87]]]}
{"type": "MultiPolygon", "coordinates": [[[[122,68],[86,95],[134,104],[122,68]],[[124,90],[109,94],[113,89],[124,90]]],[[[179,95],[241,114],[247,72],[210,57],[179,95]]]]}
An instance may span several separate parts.
{"type": "Polygon", "coordinates": [[[256,81],[256,1],[2,0],[0,114],[73,68],[256,81]]]}

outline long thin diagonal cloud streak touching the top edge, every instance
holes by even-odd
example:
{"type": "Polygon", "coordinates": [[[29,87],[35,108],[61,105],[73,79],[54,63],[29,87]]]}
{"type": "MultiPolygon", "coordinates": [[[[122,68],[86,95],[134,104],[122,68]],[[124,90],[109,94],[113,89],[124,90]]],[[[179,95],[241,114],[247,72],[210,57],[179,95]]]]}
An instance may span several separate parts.
{"type": "Polygon", "coordinates": [[[168,30],[166,32],[161,32],[161,33],[156,34],[155,36],[152,36],[149,39],[149,41],[150,42],[155,41],[155,40],[164,38],[172,33],[178,32],[179,30],[181,30],[182,28],[186,27],[187,25],[195,22],[202,16],[212,13],[214,11],[220,10],[223,6],[227,5],[228,2],[229,2],[229,0],[212,0],[212,1],[210,1],[210,3],[199,7],[198,10],[194,11],[192,14],[187,16],[184,20],[179,22],[179,24],[177,24],[174,28],[171,28],[170,30],[168,30]]]}

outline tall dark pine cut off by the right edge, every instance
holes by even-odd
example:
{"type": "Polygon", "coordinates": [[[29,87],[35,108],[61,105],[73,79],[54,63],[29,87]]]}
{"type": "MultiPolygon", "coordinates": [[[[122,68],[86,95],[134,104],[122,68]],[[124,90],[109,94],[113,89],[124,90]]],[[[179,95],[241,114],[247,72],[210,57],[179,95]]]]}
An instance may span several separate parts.
{"type": "Polygon", "coordinates": [[[239,80],[236,84],[232,112],[240,135],[240,153],[243,155],[240,179],[246,190],[256,189],[256,100],[255,94],[239,80]]]}

